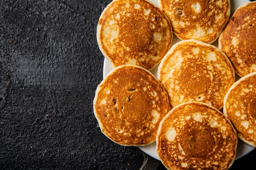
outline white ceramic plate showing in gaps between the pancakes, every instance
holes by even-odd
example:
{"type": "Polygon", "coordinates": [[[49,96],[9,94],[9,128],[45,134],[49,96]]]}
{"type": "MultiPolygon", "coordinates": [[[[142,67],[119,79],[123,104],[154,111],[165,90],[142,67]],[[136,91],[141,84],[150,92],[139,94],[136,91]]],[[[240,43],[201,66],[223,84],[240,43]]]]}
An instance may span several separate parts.
{"type": "MultiPolygon", "coordinates": [[[[157,0],[150,0],[153,2],[157,7],[158,7],[158,2],[157,0]]],[[[247,4],[250,2],[249,0],[231,0],[231,15],[234,13],[234,11],[240,7],[243,4],[247,4]]],[[[231,16],[230,15],[230,16],[231,16]]],[[[173,42],[172,45],[179,42],[180,39],[178,39],[174,34],[173,34],[173,42]]],[[[218,40],[213,42],[213,45],[218,46],[218,40]]],[[[159,64],[157,64],[151,72],[157,77],[157,67],[159,64]]],[[[103,64],[103,78],[106,77],[106,75],[112,70],[110,62],[105,58],[104,64],[103,64]]],[[[151,157],[158,159],[159,157],[156,152],[156,143],[153,142],[152,144],[149,144],[147,146],[141,146],[139,147],[143,152],[146,154],[150,155],[151,157]]],[[[245,142],[238,140],[238,146],[237,146],[237,153],[236,153],[236,159],[239,159],[240,157],[243,157],[247,153],[251,152],[254,149],[253,146],[250,146],[246,144],[245,142]]]]}

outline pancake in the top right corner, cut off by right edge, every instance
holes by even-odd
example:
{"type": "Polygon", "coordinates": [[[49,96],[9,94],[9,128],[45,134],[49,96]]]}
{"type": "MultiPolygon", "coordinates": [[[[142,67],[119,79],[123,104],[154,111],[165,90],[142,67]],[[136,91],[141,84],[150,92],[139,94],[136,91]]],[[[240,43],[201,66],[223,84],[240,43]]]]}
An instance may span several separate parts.
{"type": "Polygon", "coordinates": [[[218,42],[237,75],[243,77],[256,71],[256,2],[236,9],[218,42]]]}

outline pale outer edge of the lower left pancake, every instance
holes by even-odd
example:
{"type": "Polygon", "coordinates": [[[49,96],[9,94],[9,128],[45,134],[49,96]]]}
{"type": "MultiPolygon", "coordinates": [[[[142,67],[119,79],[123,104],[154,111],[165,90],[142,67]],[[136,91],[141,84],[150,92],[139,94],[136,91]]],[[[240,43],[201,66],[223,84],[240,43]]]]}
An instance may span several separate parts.
{"type": "MultiPolygon", "coordinates": [[[[98,121],[98,124],[99,124],[99,128],[101,129],[101,132],[102,132],[102,129],[103,129],[103,124],[101,123],[101,119],[97,116],[97,113],[96,113],[96,108],[94,107],[95,106],[95,102],[96,102],[96,100],[97,100],[97,97],[98,97],[98,93],[99,93],[99,91],[101,90],[101,84],[103,84],[104,83],[104,81],[105,81],[105,79],[107,79],[108,78],[108,76],[110,76],[110,75],[112,75],[116,70],[118,70],[118,69],[120,69],[121,67],[126,67],[126,66],[133,66],[133,67],[137,67],[137,68],[141,68],[141,69],[143,69],[144,71],[146,71],[146,72],[148,72],[150,75],[152,75],[152,77],[156,80],[156,81],[158,81],[156,78],[155,78],[155,75],[153,75],[153,73],[151,73],[150,71],[148,71],[146,68],[143,68],[143,67],[141,67],[141,66],[136,66],[136,65],[130,65],[130,64],[126,64],[126,65],[121,65],[121,66],[117,66],[117,67],[115,67],[114,69],[112,69],[107,75],[106,75],[106,77],[101,81],[101,83],[97,86],[97,88],[96,88],[96,91],[95,91],[95,96],[94,96],[94,99],[93,99],[93,113],[94,113],[94,116],[95,116],[95,118],[97,119],[97,121],[98,121]]],[[[161,84],[162,85],[162,84],[161,84]]],[[[164,87],[163,87],[164,88],[164,87]]],[[[167,94],[166,94],[167,95],[167,94]]],[[[103,132],[102,132],[103,133],[103,132]]],[[[106,137],[108,137],[105,133],[103,133],[106,137]]],[[[108,137],[108,139],[110,139],[111,141],[113,141],[110,137],[108,137]]],[[[113,142],[115,142],[115,141],[113,141],[113,142]]],[[[151,143],[153,143],[154,141],[152,141],[151,143]]],[[[119,144],[119,143],[117,143],[117,142],[115,142],[116,144],[119,144]]],[[[122,145],[122,144],[119,144],[119,145],[121,145],[121,146],[131,146],[131,145],[122,145]]],[[[145,145],[136,145],[136,146],[146,146],[146,145],[148,145],[148,144],[145,144],[145,145]]]]}

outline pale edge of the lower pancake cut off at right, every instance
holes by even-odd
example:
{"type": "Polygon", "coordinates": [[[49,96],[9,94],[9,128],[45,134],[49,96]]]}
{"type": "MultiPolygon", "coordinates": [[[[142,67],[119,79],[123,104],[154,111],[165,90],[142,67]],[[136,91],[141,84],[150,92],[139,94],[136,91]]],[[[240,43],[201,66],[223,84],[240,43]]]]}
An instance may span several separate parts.
{"type": "MultiPolygon", "coordinates": [[[[256,72],[252,72],[252,73],[249,73],[247,75],[245,75],[244,77],[241,77],[238,81],[236,81],[230,88],[229,88],[229,91],[227,92],[227,94],[225,95],[224,97],[224,106],[223,106],[223,114],[225,115],[225,117],[227,117],[227,109],[226,109],[226,102],[228,100],[228,97],[229,97],[229,94],[231,91],[233,91],[236,86],[238,86],[238,84],[240,84],[240,82],[244,81],[245,79],[247,79],[247,77],[251,77],[253,75],[256,75],[256,72]]],[[[228,118],[228,117],[227,117],[228,118]]],[[[237,136],[239,139],[241,139],[242,141],[244,141],[245,143],[249,144],[250,146],[254,146],[256,147],[252,142],[249,142],[247,141],[245,138],[243,138],[239,133],[237,133],[237,136]]]]}

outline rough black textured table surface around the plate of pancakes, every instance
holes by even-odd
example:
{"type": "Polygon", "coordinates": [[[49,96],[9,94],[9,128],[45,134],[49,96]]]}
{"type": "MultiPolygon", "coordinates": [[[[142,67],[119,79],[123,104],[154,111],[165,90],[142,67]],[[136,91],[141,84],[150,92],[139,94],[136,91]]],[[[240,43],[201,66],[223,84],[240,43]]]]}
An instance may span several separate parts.
{"type": "Polygon", "coordinates": [[[0,170],[140,168],[142,153],[105,137],[92,109],[104,60],[96,26],[109,2],[0,0],[0,170]]]}

